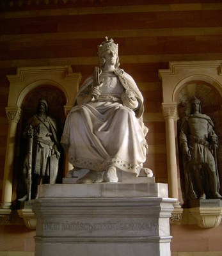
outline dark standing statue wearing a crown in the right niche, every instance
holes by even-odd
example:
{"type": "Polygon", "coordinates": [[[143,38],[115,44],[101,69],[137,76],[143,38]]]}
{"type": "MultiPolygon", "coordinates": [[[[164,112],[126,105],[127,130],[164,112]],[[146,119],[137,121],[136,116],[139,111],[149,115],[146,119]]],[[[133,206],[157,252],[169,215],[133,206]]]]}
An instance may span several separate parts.
{"type": "Polygon", "coordinates": [[[216,159],[218,136],[209,116],[201,113],[200,100],[191,102],[191,115],[183,118],[179,135],[184,161],[186,199],[222,198],[216,159]]]}

